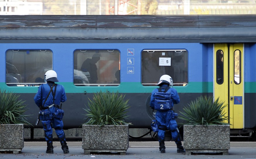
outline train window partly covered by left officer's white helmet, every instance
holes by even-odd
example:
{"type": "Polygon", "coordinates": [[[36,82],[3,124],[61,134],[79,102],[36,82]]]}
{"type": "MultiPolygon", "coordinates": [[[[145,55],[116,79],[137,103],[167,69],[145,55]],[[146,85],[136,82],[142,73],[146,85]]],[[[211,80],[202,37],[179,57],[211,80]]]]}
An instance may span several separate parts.
{"type": "Polygon", "coordinates": [[[51,69],[51,50],[6,51],[6,84],[8,86],[38,86],[44,83],[44,74],[51,69]]]}

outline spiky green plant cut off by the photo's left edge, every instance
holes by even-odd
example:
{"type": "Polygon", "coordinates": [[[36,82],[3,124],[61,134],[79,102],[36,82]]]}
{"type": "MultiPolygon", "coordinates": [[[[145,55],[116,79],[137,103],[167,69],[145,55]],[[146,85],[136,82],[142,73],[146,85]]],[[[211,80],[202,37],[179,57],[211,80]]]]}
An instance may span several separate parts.
{"type": "Polygon", "coordinates": [[[24,101],[18,100],[20,95],[0,89],[0,124],[30,125],[24,115],[28,110],[24,101]]]}

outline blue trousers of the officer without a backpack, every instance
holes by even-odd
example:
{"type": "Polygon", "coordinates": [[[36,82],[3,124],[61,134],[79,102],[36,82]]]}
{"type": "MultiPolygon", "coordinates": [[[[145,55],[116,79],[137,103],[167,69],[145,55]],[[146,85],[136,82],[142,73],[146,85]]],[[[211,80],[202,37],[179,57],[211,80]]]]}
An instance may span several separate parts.
{"type": "MultiPolygon", "coordinates": [[[[55,107],[50,108],[50,112],[54,115],[55,107]]],[[[52,142],[52,127],[55,129],[60,142],[66,142],[65,133],[63,131],[62,119],[52,117],[50,120],[42,120],[43,129],[45,131],[45,140],[47,143],[52,142]],[[51,126],[52,123],[52,126],[51,126]]]]}

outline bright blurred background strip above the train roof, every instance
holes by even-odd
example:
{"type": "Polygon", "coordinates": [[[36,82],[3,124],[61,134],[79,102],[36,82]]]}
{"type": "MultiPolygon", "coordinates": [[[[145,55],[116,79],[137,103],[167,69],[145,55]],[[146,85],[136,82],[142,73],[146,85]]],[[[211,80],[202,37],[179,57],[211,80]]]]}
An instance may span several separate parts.
{"type": "Polygon", "coordinates": [[[0,15],[256,14],[252,0],[0,0],[0,15]]]}

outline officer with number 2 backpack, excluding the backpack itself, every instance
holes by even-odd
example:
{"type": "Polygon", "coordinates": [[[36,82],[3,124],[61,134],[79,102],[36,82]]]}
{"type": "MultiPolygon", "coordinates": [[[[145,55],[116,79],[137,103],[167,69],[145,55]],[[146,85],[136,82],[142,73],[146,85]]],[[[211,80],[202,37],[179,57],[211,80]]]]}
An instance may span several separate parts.
{"type": "MultiPolygon", "coordinates": [[[[172,78],[169,75],[161,76],[157,85],[160,86],[162,91],[167,90],[166,93],[170,94],[170,108],[164,111],[161,111],[162,108],[159,110],[156,109],[157,112],[155,118],[158,126],[157,138],[160,146],[159,151],[161,153],[165,153],[165,130],[167,129],[171,131],[172,138],[177,144],[177,153],[183,153],[185,150],[182,146],[179,130],[177,128],[177,122],[175,120],[175,118],[177,118],[177,113],[174,113],[172,110],[173,105],[180,102],[179,95],[176,89],[169,88],[170,85],[173,85],[172,78]]],[[[151,94],[150,107],[152,109],[155,109],[156,92],[159,92],[158,88],[154,89],[151,94]]]]}

